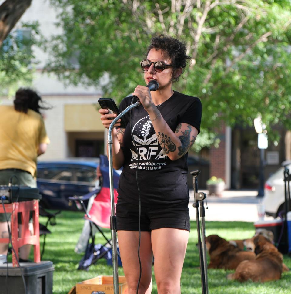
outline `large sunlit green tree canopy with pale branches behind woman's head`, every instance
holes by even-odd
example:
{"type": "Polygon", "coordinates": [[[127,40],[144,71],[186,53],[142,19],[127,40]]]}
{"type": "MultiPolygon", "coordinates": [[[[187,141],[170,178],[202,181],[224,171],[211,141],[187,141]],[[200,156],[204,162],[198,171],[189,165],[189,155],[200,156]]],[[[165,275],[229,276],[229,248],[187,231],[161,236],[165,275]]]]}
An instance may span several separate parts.
{"type": "Polygon", "coordinates": [[[289,0],[51,0],[64,33],[47,69],[68,83],[100,85],[117,101],[144,84],[150,38],[184,40],[192,57],[175,89],[202,100],[202,127],[251,125],[262,116],[291,128],[289,0]],[[72,62],[75,61],[75,62],[72,62]]]}

